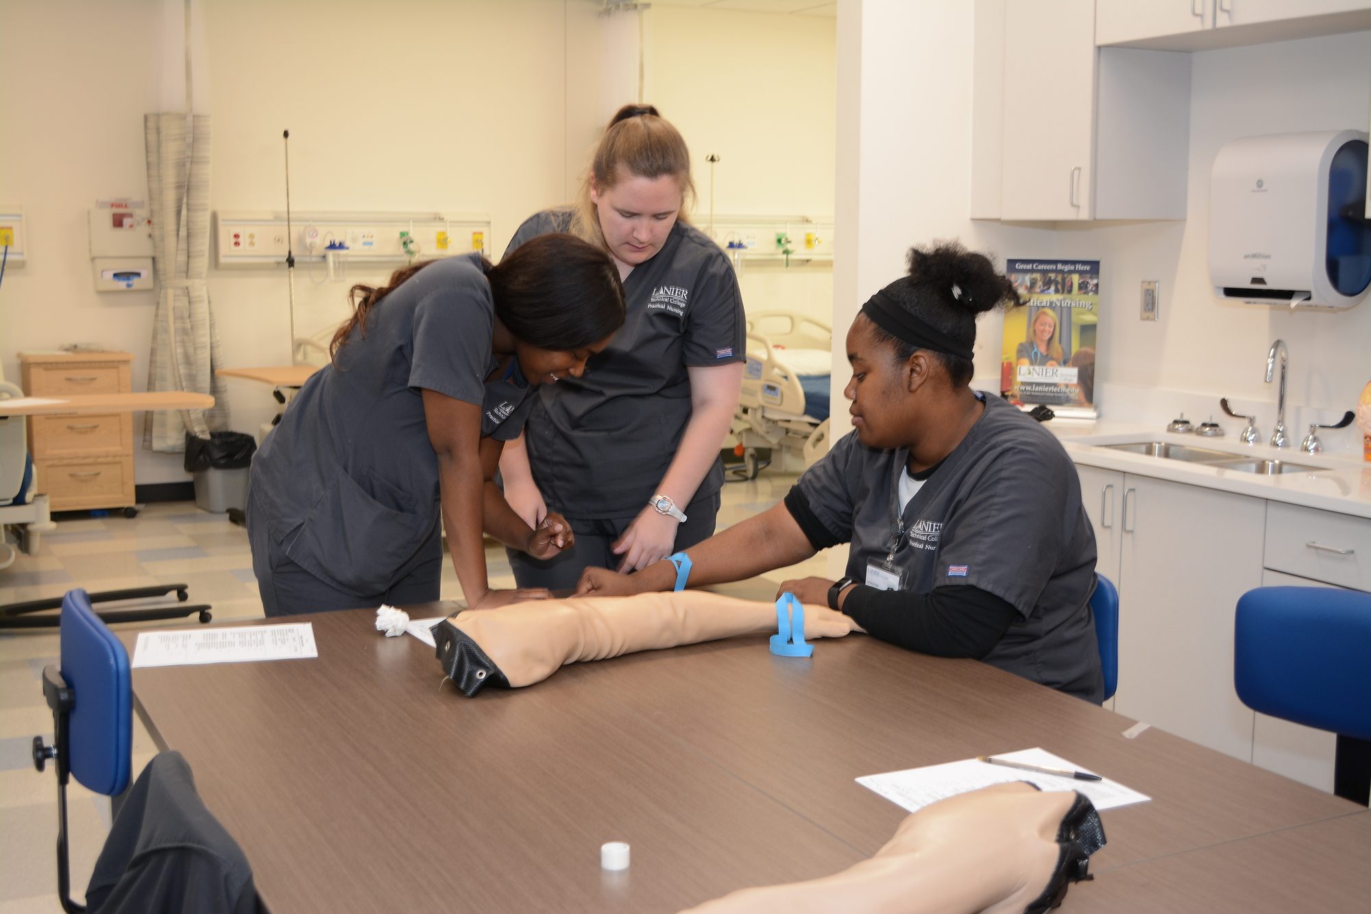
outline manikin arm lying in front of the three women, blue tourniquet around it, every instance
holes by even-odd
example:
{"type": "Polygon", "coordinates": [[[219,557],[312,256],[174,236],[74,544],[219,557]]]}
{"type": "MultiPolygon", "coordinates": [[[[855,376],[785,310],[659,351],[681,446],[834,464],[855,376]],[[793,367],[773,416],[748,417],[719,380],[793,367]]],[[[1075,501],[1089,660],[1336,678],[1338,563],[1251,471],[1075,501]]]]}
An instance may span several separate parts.
{"type": "MultiPolygon", "coordinates": [[[[838,638],[854,627],[828,607],[805,607],[806,638],[838,638]]],[[[468,609],[444,619],[433,634],[439,661],[470,696],[492,681],[509,688],[542,682],[579,660],[775,630],[775,604],[683,590],[468,609]]]]}

